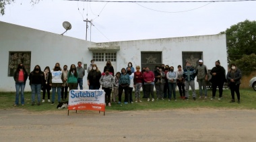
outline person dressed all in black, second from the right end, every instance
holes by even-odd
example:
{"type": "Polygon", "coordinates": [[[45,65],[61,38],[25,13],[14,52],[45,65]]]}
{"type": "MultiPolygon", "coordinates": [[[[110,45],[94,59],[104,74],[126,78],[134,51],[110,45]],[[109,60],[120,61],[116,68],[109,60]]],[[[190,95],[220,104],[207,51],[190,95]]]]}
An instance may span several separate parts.
{"type": "Polygon", "coordinates": [[[223,85],[224,82],[226,82],[226,70],[220,66],[220,61],[215,62],[215,67],[212,68],[210,74],[212,75],[212,78],[210,82],[212,82],[212,98],[211,100],[214,100],[216,96],[216,90],[217,86],[219,88],[219,98],[218,100],[221,100],[222,98],[222,92],[223,92],[223,85]]]}

